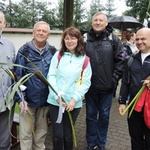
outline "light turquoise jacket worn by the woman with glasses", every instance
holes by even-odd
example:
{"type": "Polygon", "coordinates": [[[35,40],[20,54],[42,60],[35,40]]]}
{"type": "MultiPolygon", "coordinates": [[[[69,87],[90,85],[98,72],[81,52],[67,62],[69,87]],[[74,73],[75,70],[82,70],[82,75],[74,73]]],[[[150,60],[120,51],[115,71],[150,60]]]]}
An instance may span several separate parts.
{"type": "MultiPolygon", "coordinates": [[[[52,58],[51,66],[47,79],[57,93],[64,92],[63,98],[68,104],[71,98],[76,101],[75,108],[82,106],[82,98],[91,85],[91,65],[88,63],[83,71],[81,80],[81,71],[84,64],[84,56],[76,56],[70,52],[65,52],[60,59],[58,69],[58,52],[52,58]]],[[[58,96],[50,89],[48,103],[58,106],[56,100],[58,96]]]]}

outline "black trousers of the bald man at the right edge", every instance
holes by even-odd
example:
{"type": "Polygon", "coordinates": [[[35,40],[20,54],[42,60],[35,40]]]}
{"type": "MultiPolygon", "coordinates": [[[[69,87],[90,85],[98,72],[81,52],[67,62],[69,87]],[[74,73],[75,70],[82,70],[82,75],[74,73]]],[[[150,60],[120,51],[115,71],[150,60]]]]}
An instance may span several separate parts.
{"type": "Polygon", "coordinates": [[[150,150],[150,129],[145,125],[143,112],[132,112],[128,118],[132,150],[150,150]]]}

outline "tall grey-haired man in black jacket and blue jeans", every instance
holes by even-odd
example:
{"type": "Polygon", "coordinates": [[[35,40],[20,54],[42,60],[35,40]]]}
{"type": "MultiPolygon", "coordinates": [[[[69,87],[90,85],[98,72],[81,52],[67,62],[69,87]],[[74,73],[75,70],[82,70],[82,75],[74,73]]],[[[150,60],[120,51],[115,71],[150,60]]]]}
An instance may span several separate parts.
{"type": "Polygon", "coordinates": [[[92,67],[91,87],[85,95],[87,150],[105,149],[113,89],[122,76],[122,43],[112,30],[106,15],[98,12],[87,33],[85,49],[92,67]]]}

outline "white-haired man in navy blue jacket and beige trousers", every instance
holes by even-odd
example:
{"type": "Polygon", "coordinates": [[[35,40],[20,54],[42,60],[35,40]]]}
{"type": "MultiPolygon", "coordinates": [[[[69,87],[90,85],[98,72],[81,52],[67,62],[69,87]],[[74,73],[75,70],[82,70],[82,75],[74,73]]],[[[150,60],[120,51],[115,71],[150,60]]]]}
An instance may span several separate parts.
{"type": "MultiPolygon", "coordinates": [[[[51,59],[56,52],[53,46],[50,46],[47,39],[50,34],[50,26],[44,21],[39,21],[33,28],[33,40],[24,44],[18,51],[16,63],[21,64],[28,69],[16,67],[15,72],[18,79],[24,75],[35,71],[35,68],[29,63],[29,59],[46,77],[51,59]],[[23,57],[25,56],[25,57],[23,57]]],[[[20,113],[20,145],[21,150],[45,150],[45,138],[47,133],[47,113],[49,106],[47,97],[48,87],[36,76],[32,76],[25,84],[23,91],[24,99],[16,98],[18,101],[20,113]]]]}

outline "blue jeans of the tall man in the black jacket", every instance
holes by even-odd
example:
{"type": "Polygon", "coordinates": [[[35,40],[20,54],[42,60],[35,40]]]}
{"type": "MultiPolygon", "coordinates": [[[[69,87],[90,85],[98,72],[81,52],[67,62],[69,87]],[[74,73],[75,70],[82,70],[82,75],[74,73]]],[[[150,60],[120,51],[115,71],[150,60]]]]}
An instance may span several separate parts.
{"type": "Polygon", "coordinates": [[[86,99],[86,140],[91,147],[105,146],[112,105],[112,93],[85,95],[86,99]]]}

